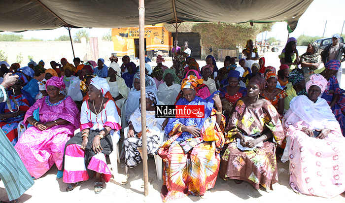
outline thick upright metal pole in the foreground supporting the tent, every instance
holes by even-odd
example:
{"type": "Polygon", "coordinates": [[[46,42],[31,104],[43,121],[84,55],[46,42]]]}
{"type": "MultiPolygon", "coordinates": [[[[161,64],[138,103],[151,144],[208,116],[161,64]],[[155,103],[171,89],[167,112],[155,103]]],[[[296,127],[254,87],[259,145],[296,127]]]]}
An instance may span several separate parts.
{"type": "Polygon", "coordinates": [[[142,168],[144,173],[144,195],[148,195],[147,141],[146,141],[146,99],[145,99],[145,2],[139,0],[139,60],[140,60],[140,100],[141,100],[141,138],[142,168]]]}

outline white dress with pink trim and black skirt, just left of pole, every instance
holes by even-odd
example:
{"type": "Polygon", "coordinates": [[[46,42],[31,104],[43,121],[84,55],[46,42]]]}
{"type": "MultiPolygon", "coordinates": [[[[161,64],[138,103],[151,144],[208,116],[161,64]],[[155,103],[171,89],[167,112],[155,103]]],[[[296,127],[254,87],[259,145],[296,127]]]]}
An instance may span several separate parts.
{"type": "Polygon", "coordinates": [[[106,165],[105,155],[109,155],[113,150],[113,143],[120,139],[121,129],[119,116],[115,103],[108,100],[104,109],[96,115],[89,108],[88,100],[83,102],[80,114],[80,131],[90,128],[89,141],[85,151],[80,149],[82,143],[81,132],[77,133],[66,143],[64,156],[64,182],[76,183],[93,178],[95,171],[101,173],[104,180],[108,182],[111,178],[110,169],[106,165]],[[100,140],[103,148],[101,153],[96,154],[92,149],[92,143],[96,135],[104,127],[112,130],[109,135],[100,140]]]}

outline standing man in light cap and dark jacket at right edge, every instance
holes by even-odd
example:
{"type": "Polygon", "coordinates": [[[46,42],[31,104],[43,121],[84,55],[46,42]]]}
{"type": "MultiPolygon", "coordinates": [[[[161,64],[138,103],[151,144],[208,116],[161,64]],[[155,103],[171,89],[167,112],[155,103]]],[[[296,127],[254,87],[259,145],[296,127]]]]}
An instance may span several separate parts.
{"type": "MultiPolygon", "coordinates": [[[[345,44],[341,43],[339,39],[340,39],[340,35],[334,34],[332,37],[333,43],[328,45],[321,52],[321,58],[322,58],[323,64],[326,64],[328,61],[331,61],[334,59],[339,60],[341,63],[345,61],[345,57],[342,58],[343,54],[345,54],[345,44]]],[[[336,75],[339,83],[342,78],[342,73],[343,73],[343,68],[340,67],[336,75]]]]}

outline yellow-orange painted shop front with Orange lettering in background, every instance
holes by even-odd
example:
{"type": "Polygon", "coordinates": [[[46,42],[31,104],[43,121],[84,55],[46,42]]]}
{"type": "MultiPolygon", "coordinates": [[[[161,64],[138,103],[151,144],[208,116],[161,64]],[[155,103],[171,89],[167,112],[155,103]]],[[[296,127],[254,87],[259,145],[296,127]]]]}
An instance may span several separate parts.
{"type": "MultiPolygon", "coordinates": [[[[118,57],[128,55],[132,59],[139,58],[139,28],[113,28],[111,29],[114,51],[118,57]]],[[[173,47],[173,37],[163,24],[145,26],[145,54],[149,58],[158,54],[169,56],[169,50],[173,47]]]]}

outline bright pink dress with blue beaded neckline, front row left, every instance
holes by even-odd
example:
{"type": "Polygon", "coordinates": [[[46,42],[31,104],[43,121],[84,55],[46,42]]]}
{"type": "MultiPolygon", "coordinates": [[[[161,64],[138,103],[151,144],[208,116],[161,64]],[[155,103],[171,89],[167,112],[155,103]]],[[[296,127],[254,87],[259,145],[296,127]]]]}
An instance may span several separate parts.
{"type": "Polygon", "coordinates": [[[65,97],[57,103],[49,102],[49,96],[43,97],[29,108],[24,117],[27,119],[39,109],[39,122],[46,123],[59,118],[69,121],[69,124],[53,126],[40,131],[35,126],[28,128],[19,138],[15,149],[31,176],[39,178],[53,165],[61,170],[66,142],[79,128],[79,110],[70,97],[65,97]]]}

